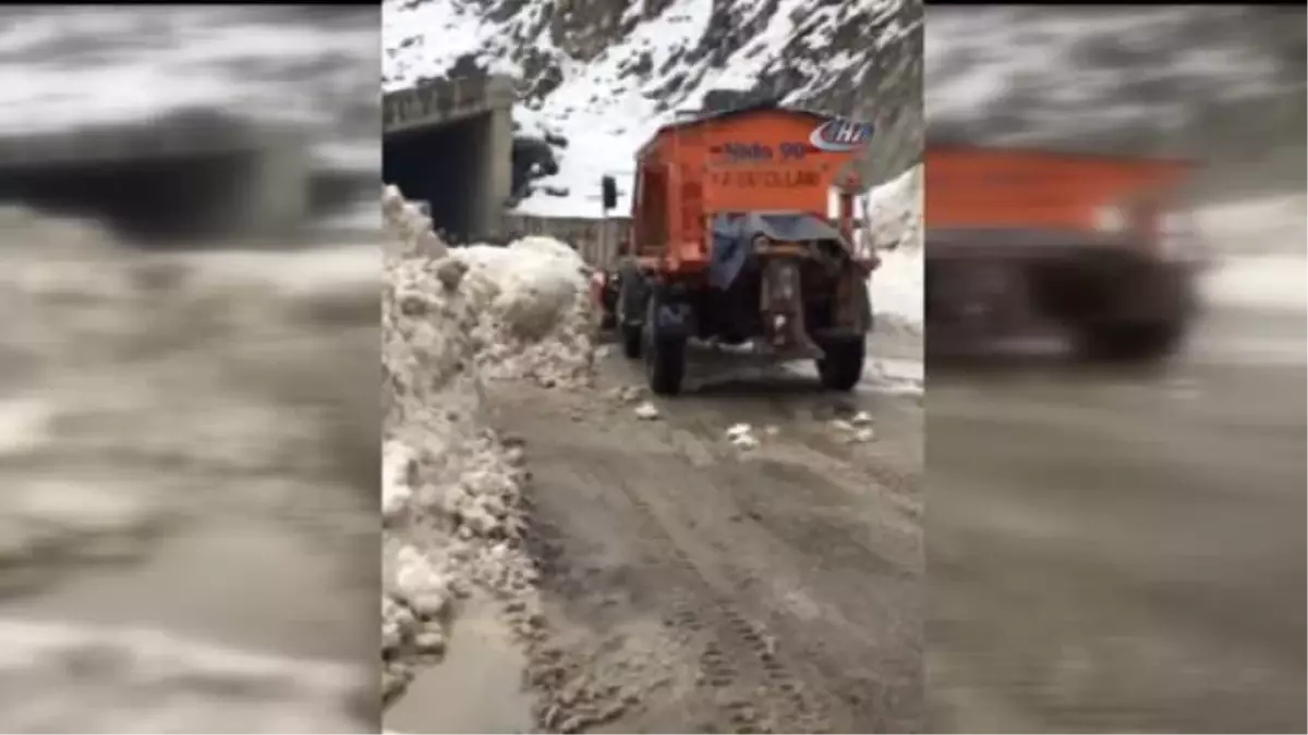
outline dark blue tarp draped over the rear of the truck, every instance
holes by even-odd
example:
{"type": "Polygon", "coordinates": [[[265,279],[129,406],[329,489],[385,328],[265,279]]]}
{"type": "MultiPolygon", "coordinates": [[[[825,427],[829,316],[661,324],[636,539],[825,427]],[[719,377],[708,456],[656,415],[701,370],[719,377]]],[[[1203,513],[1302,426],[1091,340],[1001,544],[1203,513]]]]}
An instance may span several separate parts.
{"type": "Polygon", "coordinates": [[[806,212],[718,214],[713,218],[709,285],[730,288],[753,255],[753,241],[759,235],[785,242],[844,239],[831,222],[806,212]]]}

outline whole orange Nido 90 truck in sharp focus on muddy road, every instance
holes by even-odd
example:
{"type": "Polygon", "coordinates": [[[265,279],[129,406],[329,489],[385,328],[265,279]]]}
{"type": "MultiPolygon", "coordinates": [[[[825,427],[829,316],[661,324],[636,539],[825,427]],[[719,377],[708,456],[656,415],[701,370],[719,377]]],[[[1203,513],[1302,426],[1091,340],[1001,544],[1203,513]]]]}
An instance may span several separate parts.
{"type": "MultiPolygon", "coordinates": [[[[615,273],[623,352],[676,394],[696,339],[815,360],[824,386],[862,375],[874,258],[853,245],[854,157],[871,126],[759,105],[683,119],[637,153],[615,273]]],[[[603,180],[604,208],[616,183],[603,180]]]]}

